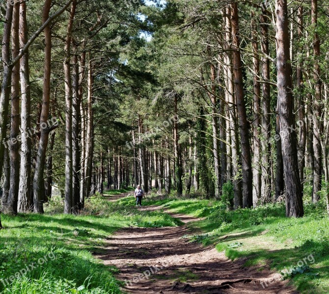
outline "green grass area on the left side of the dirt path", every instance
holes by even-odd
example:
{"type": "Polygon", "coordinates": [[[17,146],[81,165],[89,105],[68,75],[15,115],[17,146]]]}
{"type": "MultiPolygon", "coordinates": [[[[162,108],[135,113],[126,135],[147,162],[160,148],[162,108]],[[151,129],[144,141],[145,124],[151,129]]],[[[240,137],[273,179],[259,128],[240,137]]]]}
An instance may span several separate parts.
{"type": "Polygon", "coordinates": [[[44,215],[1,216],[5,229],[0,230],[0,279],[4,281],[0,281],[0,293],[121,293],[121,283],[113,276],[117,270],[105,267],[91,252],[100,250],[104,239],[122,227],[181,224],[164,212],[142,212],[100,196],[87,201],[80,216],[62,211],[61,199],[55,198],[44,215]],[[38,267],[25,274],[32,263],[38,267]],[[11,277],[20,271],[17,278],[11,277]]]}

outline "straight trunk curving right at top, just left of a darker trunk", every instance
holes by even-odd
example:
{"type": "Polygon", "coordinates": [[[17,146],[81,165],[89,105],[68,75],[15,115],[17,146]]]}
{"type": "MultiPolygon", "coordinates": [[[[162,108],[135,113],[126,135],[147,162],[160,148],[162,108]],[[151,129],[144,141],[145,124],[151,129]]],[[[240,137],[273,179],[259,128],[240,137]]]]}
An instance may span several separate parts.
{"type": "Polygon", "coordinates": [[[71,42],[74,15],[77,0],[73,0],[65,38],[65,59],[63,62],[65,78],[65,199],[64,213],[72,213],[73,205],[73,161],[72,161],[72,77],[71,77],[71,42]]]}

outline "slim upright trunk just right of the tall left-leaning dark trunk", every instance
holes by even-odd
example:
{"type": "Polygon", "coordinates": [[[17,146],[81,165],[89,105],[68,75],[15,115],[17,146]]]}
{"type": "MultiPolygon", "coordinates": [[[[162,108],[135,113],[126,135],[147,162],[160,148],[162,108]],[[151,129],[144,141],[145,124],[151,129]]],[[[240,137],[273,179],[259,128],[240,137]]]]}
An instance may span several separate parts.
{"type": "Polygon", "coordinates": [[[256,207],[261,197],[261,145],[259,128],[260,120],[260,83],[257,81],[259,76],[259,54],[258,54],[258,38],[257,25],[255,21],[255,13],[251,12],[251,29],[252,29],[252,49],[253,49],[253,171],[252,171],[252,204],[256,207]]]}

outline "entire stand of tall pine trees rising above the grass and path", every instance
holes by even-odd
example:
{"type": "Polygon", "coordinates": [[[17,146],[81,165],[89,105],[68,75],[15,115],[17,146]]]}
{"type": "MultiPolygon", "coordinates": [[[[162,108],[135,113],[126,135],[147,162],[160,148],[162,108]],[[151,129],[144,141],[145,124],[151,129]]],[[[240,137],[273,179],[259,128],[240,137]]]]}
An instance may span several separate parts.
{"type": "Polygon", "coordinates": [[[318,0],[3,3],[2,212],[43,213],[56,188],[78,214],[137,184],[329,212],[328,13],[318,0]]]}

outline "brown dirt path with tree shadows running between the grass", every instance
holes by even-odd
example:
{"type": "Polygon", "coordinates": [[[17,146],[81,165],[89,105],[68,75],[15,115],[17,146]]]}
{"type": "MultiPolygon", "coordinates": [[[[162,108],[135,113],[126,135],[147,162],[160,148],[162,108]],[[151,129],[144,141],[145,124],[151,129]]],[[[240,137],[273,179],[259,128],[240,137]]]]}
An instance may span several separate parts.
{"type": "MultiPolygon", "coordinates": [[[[156,207],[142,207],[154,210],[156,207]]],[[[185,223],[198,219],[173,215],[185,223]]],[[[144,293],[298,293],[287,282],[276,281],[273,272],[243,267],[215,248],[190,243],[187,225],[165,228],[125,228],[107,240],[97,257],[116,266],[124,290],[144,293]],[[272,281],[272,284],[271,284],[272,281]],[[263,282],[263,284],[261,284],[263,282]],[[263,286],[262,286],[263,285],[263,286]]]]}

